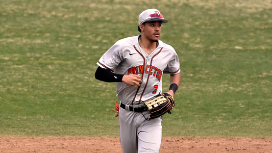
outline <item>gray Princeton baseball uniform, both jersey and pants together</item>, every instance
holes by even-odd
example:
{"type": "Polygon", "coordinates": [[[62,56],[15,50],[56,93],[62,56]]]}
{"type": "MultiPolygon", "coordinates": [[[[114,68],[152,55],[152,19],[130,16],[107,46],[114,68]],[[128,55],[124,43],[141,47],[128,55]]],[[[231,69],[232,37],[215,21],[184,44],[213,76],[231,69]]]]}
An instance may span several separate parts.
{"type": "Polygon", "coordinates": [[[175,49],[159,40],[157,48],[148,55],[138,44],[139,36],[117,41],[97,62],[118,74],[138,74],[140,86],[117,83],[117,97],[126,109],[119,109],[119,135],[123,152],[159,152],[161,119],[146,120],[149,112],[131,112],[128,105],[146,100],[162,92],[162,74],[178,74],[180,63],[175,49]],[[144,117],[145,118],[144,118],[144,117]]]}

